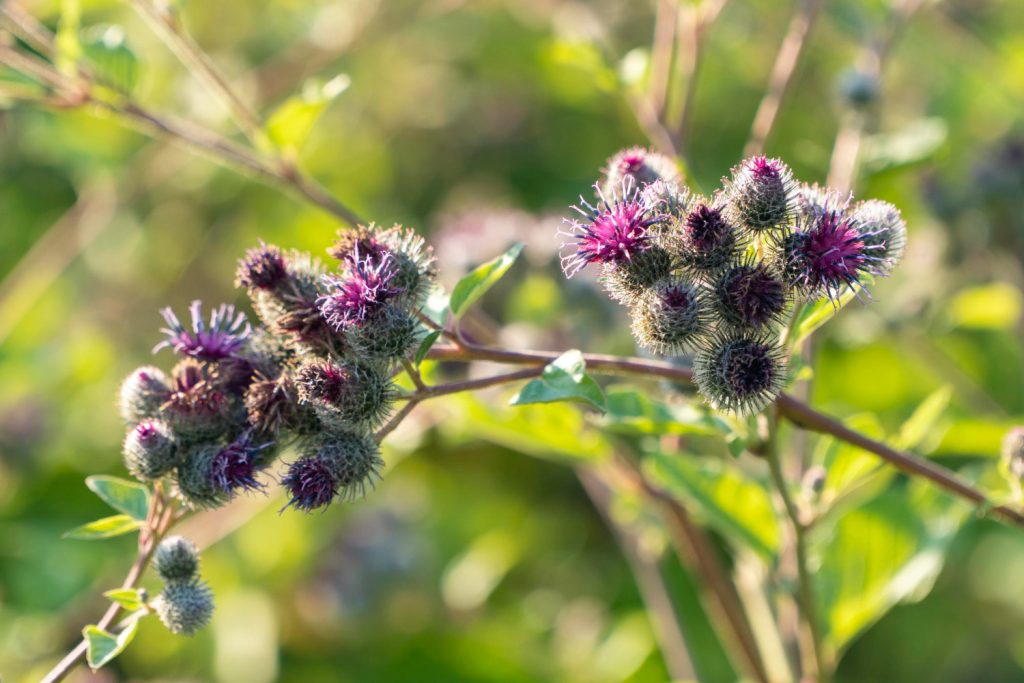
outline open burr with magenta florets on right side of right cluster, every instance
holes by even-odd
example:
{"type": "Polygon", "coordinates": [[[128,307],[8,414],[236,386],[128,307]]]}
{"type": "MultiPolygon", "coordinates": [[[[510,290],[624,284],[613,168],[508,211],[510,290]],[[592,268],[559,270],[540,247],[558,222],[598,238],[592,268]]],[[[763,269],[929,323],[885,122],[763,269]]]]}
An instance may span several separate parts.
{"type": "Polygon", "coordinates": [[[805,296],[836,300],[867,274],[879,274],[882,245],[868,245],[850,215],[835,207],[804,216],[781,242],[783,275],[805,296]]]}

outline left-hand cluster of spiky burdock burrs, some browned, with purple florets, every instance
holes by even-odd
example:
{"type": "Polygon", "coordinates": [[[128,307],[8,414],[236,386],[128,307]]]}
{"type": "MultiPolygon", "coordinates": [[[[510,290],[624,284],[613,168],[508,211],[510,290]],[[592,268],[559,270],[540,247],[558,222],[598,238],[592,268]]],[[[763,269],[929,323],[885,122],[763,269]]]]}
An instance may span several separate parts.
{"type": "Polygon", "coordinates": [[[360,495],[382,461],[374,430],[396,396],[391,377],[422,336],[419,307],[435,279],[429,247],[413,230],[344,230],[328,271],[308,254],[260,243],[236,284],[258,323],[221,305],[190,325],[162,311],[180,359],[169,374],[146,366],[121,388],[125,465],[143,481],[166,478],[189,506],[213,508],[265,487],[282,446],[298,460],[282,483],[289,506],[309,511],[360,495]]]}

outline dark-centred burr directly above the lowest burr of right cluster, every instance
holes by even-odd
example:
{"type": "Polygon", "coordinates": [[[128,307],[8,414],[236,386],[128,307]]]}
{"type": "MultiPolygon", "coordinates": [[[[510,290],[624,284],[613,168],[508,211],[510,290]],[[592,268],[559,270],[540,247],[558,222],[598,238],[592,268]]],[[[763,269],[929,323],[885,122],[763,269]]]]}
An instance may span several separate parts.
{"type": "Polygon", "coordinates": [[[732,329],[760,330],[782,317],[786,287],[764,263],[749,261],[722,271],[712,284],[712,308],[732,329]]]}

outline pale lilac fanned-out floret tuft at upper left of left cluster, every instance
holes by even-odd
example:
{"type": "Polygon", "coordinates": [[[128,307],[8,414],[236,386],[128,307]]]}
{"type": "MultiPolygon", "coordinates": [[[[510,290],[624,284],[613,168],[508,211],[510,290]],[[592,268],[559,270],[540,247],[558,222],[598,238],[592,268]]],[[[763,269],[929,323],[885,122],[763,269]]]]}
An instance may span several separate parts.
{"type": "Polygon", "coordinates": [[[181,355],[202,360],[220,360],[231,357],[245,344],[250,327],[245,313],[236,312],[234,306],[220,304],[210,314],[210,324],[203,322],[203,303],[197,299],[188,307],[191,330],[186,330],[169,307],[160,311],[168,327],[161,329],[167,339],[157,344],[153,352],[172,348],[181,355]]]}

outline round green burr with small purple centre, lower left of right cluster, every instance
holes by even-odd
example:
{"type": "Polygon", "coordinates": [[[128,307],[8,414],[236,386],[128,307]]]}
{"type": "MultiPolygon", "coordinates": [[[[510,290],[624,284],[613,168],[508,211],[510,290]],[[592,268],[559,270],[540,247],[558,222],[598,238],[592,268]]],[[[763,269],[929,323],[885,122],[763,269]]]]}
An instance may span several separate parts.
{"type": "Polygon", "coordinates": [[[637,342],[662,355],[688,349],[707,325],[697,289],[683,280],[659,283],[634,302],[630,312],[637,342]]]}

